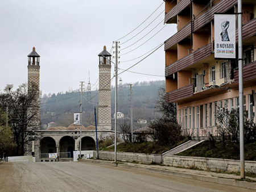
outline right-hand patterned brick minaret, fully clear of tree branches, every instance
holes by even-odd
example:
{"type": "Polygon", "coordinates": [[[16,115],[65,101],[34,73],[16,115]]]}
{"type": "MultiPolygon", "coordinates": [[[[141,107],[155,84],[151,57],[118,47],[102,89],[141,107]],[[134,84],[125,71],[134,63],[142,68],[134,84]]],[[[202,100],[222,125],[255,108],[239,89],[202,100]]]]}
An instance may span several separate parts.
{"type": "Polygon", "coordinates": [[[99,101],[98,101],[98,128],[111,130],[111,55],[104,50],[98,55],[99,69],[99,101]]]}

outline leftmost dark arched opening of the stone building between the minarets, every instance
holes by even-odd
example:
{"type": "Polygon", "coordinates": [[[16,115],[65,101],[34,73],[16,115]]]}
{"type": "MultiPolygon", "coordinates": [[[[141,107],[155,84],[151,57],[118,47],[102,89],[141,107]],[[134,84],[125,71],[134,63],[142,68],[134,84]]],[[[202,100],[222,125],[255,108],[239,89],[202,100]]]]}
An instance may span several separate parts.
{"type": "Polygon", "coordinates": [[[43,137],[40,140],[40,153],[56,153],[56,141],[52,137],[43,137]]]}

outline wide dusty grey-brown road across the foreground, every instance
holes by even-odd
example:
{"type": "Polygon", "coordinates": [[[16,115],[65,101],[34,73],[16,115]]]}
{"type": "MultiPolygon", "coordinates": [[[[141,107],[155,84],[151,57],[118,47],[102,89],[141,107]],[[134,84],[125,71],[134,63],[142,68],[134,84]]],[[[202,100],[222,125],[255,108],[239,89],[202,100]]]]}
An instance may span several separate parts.
{"type": "Polygon", "coordinates": [[[0,191],[254,191],[85,162],[4,162],[0,191]]]}

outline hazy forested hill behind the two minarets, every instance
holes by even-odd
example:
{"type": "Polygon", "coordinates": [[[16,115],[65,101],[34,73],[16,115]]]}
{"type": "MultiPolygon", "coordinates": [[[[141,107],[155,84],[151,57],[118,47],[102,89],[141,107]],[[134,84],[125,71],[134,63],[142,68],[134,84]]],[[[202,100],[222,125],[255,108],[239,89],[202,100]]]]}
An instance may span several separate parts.
{"type": "MultiPolygon", "coordinates": [[[[154,117],[155,100],[160,86],[164,81],[135,82],[133,89],[133,119],[152,119],[154,117]]],[[[118,91],[118,111],[130,117],[130,86],[123,84],[122,91],[118,91]]],[[[55,126],[67,127],[73,121],[73,112],[80,111],[80,91],[44,94],[40,102],[41,122],[47,124],[55,122],[55,126]]],[[[112,87],[112,117],[114,114],[115,89],[112,87]]],[[[82,124],[87,127],[94,122],[94,106],[98,106],[98,90],[85,91],[82,97],[82,124]]]]}

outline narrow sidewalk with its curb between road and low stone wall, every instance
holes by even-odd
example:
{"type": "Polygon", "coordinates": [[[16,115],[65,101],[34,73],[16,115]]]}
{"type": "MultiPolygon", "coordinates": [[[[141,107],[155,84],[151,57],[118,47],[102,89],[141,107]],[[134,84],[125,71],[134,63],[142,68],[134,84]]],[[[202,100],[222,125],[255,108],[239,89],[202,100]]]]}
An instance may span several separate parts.
{"type": "Polygon", "coordinates": [[[134,164],[131,162],[118,162],[115,164],[113,161],[105,160],[80,160],[81,162],[95,163],[95,164],[105,164],[111,166],[118,166],[120,168],[143,170],[147,172],[167,174],[177,177],[191,178],[193,180],[208,181],[214,183],[220,183],[223,185],[231,185],[237,187],[244,187],[247,189],[256,189],[256,178],[246,177],[247,179],[253,180],[255,182],[238,181],[240,176],[235,174],[227,173],[215,173],[205,170],[193,170],[184,168],[175,168],[172,166],[160,166],[160,165],[146,165],[146,164],[134,164]]]}

